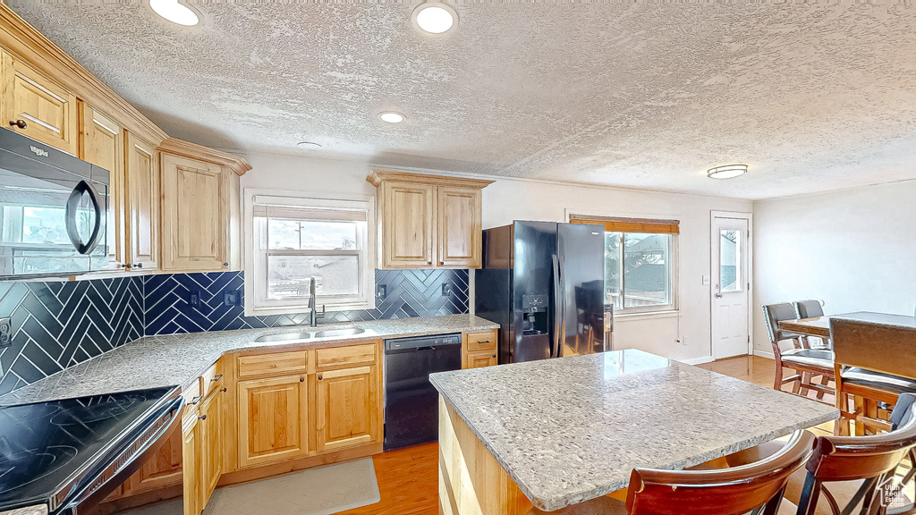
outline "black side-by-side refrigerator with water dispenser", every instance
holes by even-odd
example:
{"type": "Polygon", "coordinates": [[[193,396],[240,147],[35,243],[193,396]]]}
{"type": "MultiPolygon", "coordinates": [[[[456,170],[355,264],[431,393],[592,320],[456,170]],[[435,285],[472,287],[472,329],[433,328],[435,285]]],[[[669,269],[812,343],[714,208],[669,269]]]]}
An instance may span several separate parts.
{"type": "Polygon", "coordinates": [[[517,220],[483,250],[475,310],[500,324],[500,364],[605,350],[604,227],[517,220]]]}

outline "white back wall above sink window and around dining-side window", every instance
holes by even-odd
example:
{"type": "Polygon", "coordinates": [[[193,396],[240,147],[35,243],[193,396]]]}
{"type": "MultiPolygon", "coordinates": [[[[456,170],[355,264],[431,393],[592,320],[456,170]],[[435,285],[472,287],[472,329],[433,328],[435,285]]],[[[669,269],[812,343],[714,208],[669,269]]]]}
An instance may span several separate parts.
{"type": "MultiPolygon", "coordinates": [[[[242,187],[308,192],[372,194],[365,181],[371,165],[354,161],[285,155],[246,155],[253,170],[242,187]]],[[[710,212],[750,212],[752,203],[675,193],[571,186],[544,181],[498,180],[483,195],[484,227],[513,220],[565,222],[567,213],[657,216],[681,221],[678,314],[618,317],[615,345],[637,347],[662,356],[703,360],[710,352],[710,212]],[[681,339],[683,344],[678,344],[681,339]]]]}

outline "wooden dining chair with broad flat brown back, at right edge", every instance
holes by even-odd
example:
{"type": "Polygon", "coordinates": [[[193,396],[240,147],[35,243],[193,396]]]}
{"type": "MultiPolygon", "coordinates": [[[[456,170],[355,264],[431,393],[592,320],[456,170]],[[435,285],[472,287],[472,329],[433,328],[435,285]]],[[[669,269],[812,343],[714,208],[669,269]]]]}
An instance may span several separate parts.
{"type": "Polygon", "coordinates": [[[836,432],[888,431],[889,410],[901,393],[916,393],[916,330],[831,318],[834,340],[836,432]]]}

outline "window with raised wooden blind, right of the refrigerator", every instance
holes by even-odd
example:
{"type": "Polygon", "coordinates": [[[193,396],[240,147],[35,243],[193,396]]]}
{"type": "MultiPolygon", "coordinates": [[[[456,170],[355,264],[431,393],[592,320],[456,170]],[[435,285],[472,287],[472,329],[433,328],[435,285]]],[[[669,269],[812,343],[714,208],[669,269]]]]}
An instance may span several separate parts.
{"type": "Polygon", "coordinates": [[[676,309],[677,220],[573,215],[570,222],[605,227],[605,304],[619,313],[676,309]]]}

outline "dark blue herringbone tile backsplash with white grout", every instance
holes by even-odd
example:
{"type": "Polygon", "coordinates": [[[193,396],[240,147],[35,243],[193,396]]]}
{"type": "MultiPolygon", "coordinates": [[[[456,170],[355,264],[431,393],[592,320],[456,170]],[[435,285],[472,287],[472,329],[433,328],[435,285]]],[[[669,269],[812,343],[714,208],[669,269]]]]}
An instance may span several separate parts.
{"type": "MultiPolygon", "coordinates": [[[[308,315],[245,316],[242,272],[161,274],[80,281],[0,281],[0,317],[12,345],[0,348],[0,395],[144,334],[196,333],[308,323],[308,315]],[[191,291],[200,305],[191,306],[191,291]],[[238,305],[225,307],[235,291],[238,305]]],[[[326,322],[468,312],[467,270],[376,270],[385,300],[369,311],[328,312],[326,322]],[[442,295],[442,283],[452,294],[442,295]]]]}

